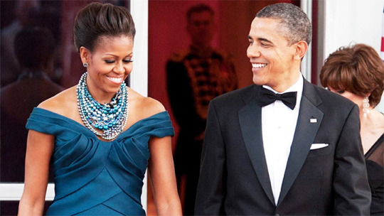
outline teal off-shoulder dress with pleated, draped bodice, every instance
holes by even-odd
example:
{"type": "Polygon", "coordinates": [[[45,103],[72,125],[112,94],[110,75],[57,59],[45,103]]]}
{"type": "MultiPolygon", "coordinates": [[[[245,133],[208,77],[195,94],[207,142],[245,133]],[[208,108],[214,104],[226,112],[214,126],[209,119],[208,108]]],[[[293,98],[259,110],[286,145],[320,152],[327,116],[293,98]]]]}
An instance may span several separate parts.
{"type": "Polygon", "coordinates": [[[168,112],[137,121],[114,141],[41,108],[26,128],[55,136],[55,198],[47,215],[145,215],[140,198],[149,138],[174,136],[168,112]]]}

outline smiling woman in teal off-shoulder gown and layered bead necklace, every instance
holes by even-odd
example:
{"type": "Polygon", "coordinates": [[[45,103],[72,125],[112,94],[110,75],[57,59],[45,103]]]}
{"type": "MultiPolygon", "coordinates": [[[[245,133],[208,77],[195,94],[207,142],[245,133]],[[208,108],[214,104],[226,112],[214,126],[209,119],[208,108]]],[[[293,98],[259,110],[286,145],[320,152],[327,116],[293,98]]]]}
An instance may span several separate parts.
{"type": "Polygon", "coordinates": [[[26,177],[18,215],[145,215],[148,168],[158,215],[181,215],[163,105],[127,87],[135,28],[123,7],[92,3],[75,18],[75,46],[87,68],[79,84],[38,105],[28,119],[26,177]]]}

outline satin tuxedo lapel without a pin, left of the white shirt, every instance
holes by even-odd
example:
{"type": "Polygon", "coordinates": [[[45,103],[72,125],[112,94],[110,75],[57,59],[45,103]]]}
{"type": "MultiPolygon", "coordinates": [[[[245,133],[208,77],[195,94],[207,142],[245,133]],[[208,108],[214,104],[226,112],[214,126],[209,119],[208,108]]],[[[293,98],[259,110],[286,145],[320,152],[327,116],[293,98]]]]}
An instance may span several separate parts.
{"type": "Polygon", "coordinates": [[[252,161],[252,166],[255,169],[262,188],[274,204],[270,175],[268,174],[267,162],[265,161],[265,153],[262,145],[261,107],[257,104],[257,100],[253,99],[249,104],[240,109],[238,115],[242,138],[244,139],[248,155],[252,161]]]}

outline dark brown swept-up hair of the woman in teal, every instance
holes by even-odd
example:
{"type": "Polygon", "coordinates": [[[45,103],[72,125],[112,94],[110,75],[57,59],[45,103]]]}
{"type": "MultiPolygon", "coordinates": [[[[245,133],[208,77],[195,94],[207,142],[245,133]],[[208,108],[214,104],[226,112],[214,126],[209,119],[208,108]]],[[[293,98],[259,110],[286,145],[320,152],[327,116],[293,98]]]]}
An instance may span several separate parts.
{"type": "Polygon", "coordinates": [[[76,50],[85,47],[91,52],[100,36],[129,36],[134,39],[136,30],[127,8],[94,2],[81,9],[73,27],[76,50]]]}

